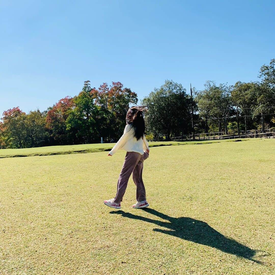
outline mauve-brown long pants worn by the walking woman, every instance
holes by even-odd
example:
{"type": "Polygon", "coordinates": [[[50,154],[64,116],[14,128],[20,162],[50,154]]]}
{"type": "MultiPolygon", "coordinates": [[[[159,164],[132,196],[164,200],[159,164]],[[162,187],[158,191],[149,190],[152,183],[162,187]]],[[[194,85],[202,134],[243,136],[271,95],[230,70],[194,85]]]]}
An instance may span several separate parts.
{"type": "Polygon", "coordinates": [[[144,152],[143,155],[137,152],[127,152],[125,160],[119,174],[117,182],[117,194],[114,202],[120,204],[127,188],[128,180],[133,173],[133,181],[136,185],[136,200],[138,202],[146,200],[146,192],[142,180],[143,161],[148,158],[149,154],[144,152]]]}

